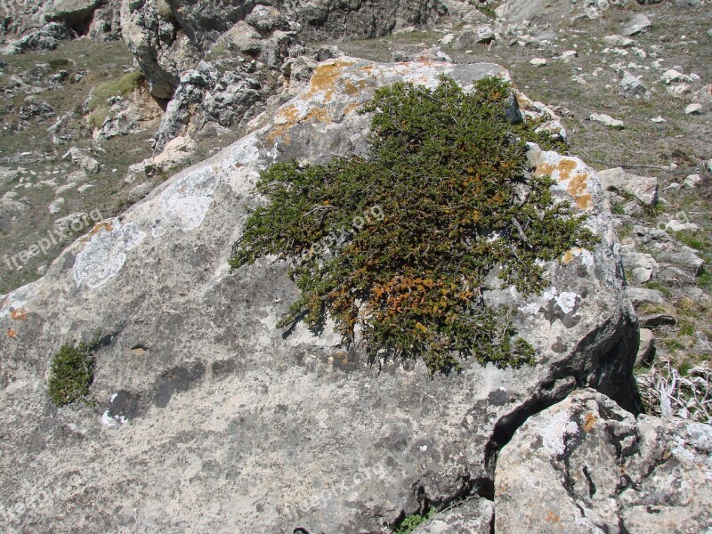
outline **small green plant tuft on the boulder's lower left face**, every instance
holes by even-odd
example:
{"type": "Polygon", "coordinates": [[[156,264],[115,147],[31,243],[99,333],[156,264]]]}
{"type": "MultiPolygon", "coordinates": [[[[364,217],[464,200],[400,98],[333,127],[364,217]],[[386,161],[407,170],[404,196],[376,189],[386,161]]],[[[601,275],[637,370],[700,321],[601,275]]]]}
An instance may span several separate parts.
{"type": "Polygon", "coordinates": [[[94,376],[93,351],[90,345],[63,344],[54,355],[50,368],[48,392],[55,406],[89,401],[89,386],[94,376]]]}

